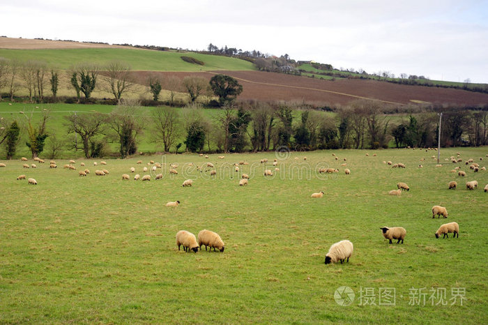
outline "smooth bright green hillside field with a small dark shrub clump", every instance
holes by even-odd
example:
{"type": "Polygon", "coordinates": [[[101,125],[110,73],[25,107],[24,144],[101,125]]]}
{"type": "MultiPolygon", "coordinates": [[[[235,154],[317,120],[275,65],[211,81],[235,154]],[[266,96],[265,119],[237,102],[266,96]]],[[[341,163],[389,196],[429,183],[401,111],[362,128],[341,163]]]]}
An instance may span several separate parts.
{"type": "Polygon", "coordinates": [[[101,66],[113,61],[125,61],[132,70],[148,71],[208,71],[255,70],[252,63],[227,56],[194,52],[150,51],[133,49],[75,49],[75,50],[6,50],[0,57],[20,61],[45,61],[49,66],[67,70],[77,63],[96,63],[101,66]],[[181,56],[192,56],[204,61],[204,66],[187,63],[181,56]]]}

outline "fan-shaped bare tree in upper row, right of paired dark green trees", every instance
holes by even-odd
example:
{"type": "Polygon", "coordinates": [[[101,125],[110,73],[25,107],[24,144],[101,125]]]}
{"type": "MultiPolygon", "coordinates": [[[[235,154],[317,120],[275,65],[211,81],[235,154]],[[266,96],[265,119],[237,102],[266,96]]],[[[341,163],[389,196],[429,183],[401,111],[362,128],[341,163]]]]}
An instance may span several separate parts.
{"type": "Polygon", "coordinates": [[[107,76],[103,77],[107,83],[109,93],[114,95],[117,103],[121,103],[122,94],[124,91],[130,90],[133,86],[130,77],[130,66],[123,61],[112,61],[108,63],[107,76]]]}

